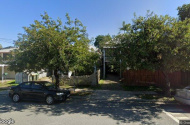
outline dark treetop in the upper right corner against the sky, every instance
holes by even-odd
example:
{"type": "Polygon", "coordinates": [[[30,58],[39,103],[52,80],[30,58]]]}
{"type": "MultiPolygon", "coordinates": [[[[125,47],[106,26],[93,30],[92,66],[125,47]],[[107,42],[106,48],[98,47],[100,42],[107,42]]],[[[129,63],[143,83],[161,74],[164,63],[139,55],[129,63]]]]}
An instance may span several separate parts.
{"type": "Polygon", "coordinates": [[[183,6],[178,7],[177,10],[181,21],[190,18],[190,4],[183,4],[183,6]]]}

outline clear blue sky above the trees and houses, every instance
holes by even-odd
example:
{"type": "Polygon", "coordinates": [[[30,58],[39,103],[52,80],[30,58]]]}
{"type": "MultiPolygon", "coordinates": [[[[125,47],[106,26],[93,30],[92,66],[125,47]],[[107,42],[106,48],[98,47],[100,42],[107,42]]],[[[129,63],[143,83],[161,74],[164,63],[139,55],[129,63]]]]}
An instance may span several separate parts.
{"type": "Polygon", "coordinates": [[[117,35],[122,22],[131,23],[134,13],[145,16],[147,10],[157,15],[178,17],[177,7],[190,0],[0,0],[0,44],[13,46],[24,26],[41,20],[47,12],[65,22],[65,14],[79,19],[87,27],[89,39],[98,35],[117,35]]]}

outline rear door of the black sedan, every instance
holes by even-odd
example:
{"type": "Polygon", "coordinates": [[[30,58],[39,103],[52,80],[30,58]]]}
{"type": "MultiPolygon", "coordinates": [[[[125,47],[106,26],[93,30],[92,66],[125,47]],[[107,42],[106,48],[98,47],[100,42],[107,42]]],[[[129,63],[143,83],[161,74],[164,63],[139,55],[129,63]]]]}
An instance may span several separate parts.
{"type": "Polygon", "coordinates": [[[24,99],[31,99],[31,90],[31,82],[24,82],[20,85],[20,93],[24,99]]]}

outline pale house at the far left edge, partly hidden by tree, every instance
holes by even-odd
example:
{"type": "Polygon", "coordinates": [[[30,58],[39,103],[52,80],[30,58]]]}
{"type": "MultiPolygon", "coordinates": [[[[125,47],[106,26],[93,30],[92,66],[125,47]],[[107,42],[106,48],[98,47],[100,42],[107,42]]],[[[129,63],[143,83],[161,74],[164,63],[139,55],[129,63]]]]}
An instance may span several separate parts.
{"type": "Polygon", "coordinates": [[[15,47],[5,47],[0,49],[0,78],[2,81],[6,79],[15,79],[15,72],[8,70],[9,65],[7,65],[7,60],[11,51],[15,50],[15,47]]]}

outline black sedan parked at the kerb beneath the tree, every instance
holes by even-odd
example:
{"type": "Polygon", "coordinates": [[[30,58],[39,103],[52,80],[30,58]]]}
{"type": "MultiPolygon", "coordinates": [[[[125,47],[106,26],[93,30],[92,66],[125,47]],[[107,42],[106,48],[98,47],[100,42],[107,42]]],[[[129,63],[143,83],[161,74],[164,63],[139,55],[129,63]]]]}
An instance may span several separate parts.
{"type": "Polygon", "coordinates": [[[19,102],[22,99],[43,100],[51,105],[56,100],[66,101],[70,97],[70,91],[56,89],[53,83],[47,81],[29,81],[11,87],[9,97],[13,102],[19,102]]]}

